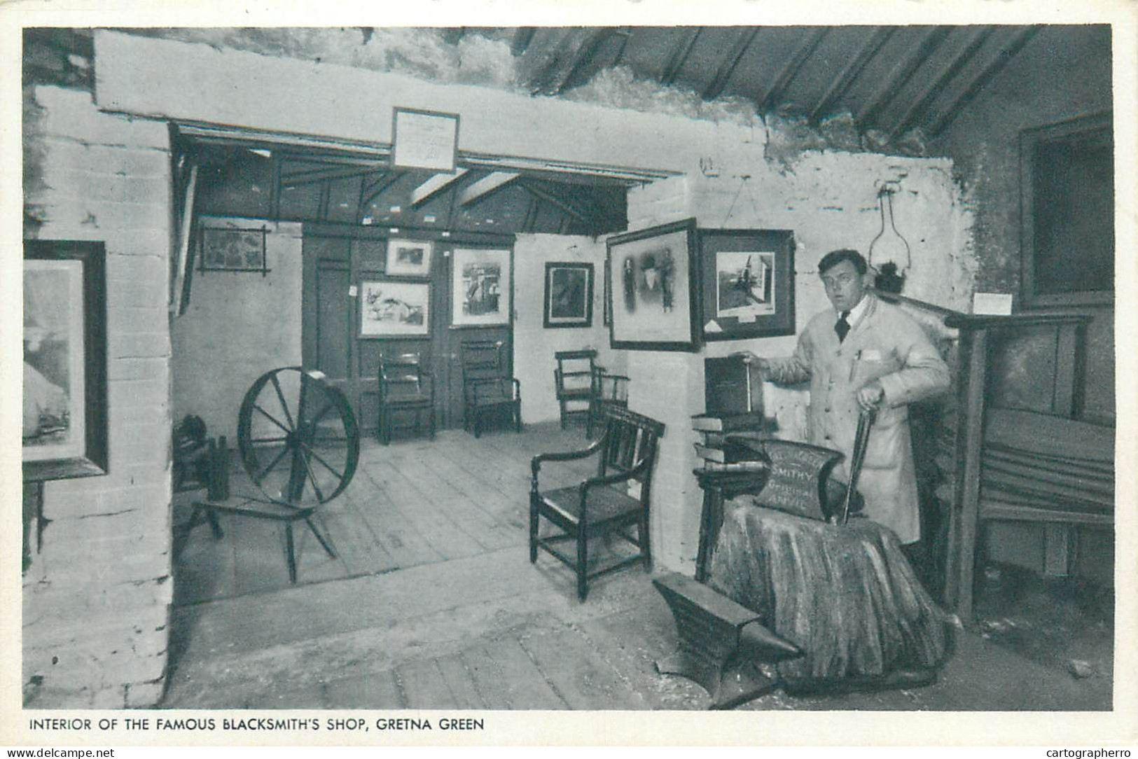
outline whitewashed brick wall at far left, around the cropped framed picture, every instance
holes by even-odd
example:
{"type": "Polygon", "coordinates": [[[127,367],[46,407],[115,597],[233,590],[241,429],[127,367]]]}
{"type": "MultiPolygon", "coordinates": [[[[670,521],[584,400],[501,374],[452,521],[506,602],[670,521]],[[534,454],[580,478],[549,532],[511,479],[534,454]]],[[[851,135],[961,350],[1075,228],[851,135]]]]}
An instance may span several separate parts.
{"type": "Polygon", "coordinates": [[[110,460],[104,477],[44,484],[51,521],[23,578],[24,698],[152,706],[173,586],[168,138],[164,124],[98,112],[85,91],[27,96],[28,231],[106,244],[110,460]]]}

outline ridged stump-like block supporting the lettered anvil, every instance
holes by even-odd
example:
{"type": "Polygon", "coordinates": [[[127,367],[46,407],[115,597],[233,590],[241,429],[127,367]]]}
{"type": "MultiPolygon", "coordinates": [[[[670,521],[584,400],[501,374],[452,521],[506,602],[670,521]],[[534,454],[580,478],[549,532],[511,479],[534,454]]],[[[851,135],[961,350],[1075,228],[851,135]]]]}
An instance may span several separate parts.
{"type": "Polygon", "coordinates": [[[946,658],[949,617],[897,536],[868,519],[828,525],[739,496],[728,504],[708,585],[806,651],[777,665],[784,679],[875,677],[933,669],[946,658]]]}

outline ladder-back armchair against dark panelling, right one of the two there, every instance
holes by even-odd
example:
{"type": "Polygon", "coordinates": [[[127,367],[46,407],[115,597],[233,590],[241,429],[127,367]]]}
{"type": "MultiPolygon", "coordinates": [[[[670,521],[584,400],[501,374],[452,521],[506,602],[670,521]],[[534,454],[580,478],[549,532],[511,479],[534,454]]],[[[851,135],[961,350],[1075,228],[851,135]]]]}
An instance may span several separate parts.
{"type": "Polygon", "coordinates": [[[462,429],[481,436],[483,422],[508,413],[521,431],[521,382],[506,371],[502,340],[462,344],[462,429]]]}

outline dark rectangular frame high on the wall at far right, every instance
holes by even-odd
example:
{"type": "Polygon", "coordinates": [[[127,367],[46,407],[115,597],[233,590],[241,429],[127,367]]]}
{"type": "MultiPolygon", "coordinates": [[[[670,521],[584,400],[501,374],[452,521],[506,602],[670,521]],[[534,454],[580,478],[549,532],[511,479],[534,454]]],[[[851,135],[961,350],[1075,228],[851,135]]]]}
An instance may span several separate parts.
{"type": "Polygon", "coordinates": [[[1020,133],[1023,305],[1114,299],[1111,113],[1020,133]]]}

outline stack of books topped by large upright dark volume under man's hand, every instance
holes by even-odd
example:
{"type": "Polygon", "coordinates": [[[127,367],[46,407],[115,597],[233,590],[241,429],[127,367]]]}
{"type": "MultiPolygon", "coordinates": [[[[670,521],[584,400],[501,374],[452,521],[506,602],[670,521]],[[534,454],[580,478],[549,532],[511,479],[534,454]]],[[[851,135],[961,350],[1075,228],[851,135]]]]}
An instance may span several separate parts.
{"type": "Polygon", "coordinates": [[[692,416],[700,434],[695,455],[706,469],[762,469],[760,440],[767,437],[761,385],[751,381],[742,356],[703,361],[707,411],[692,416]]]}

